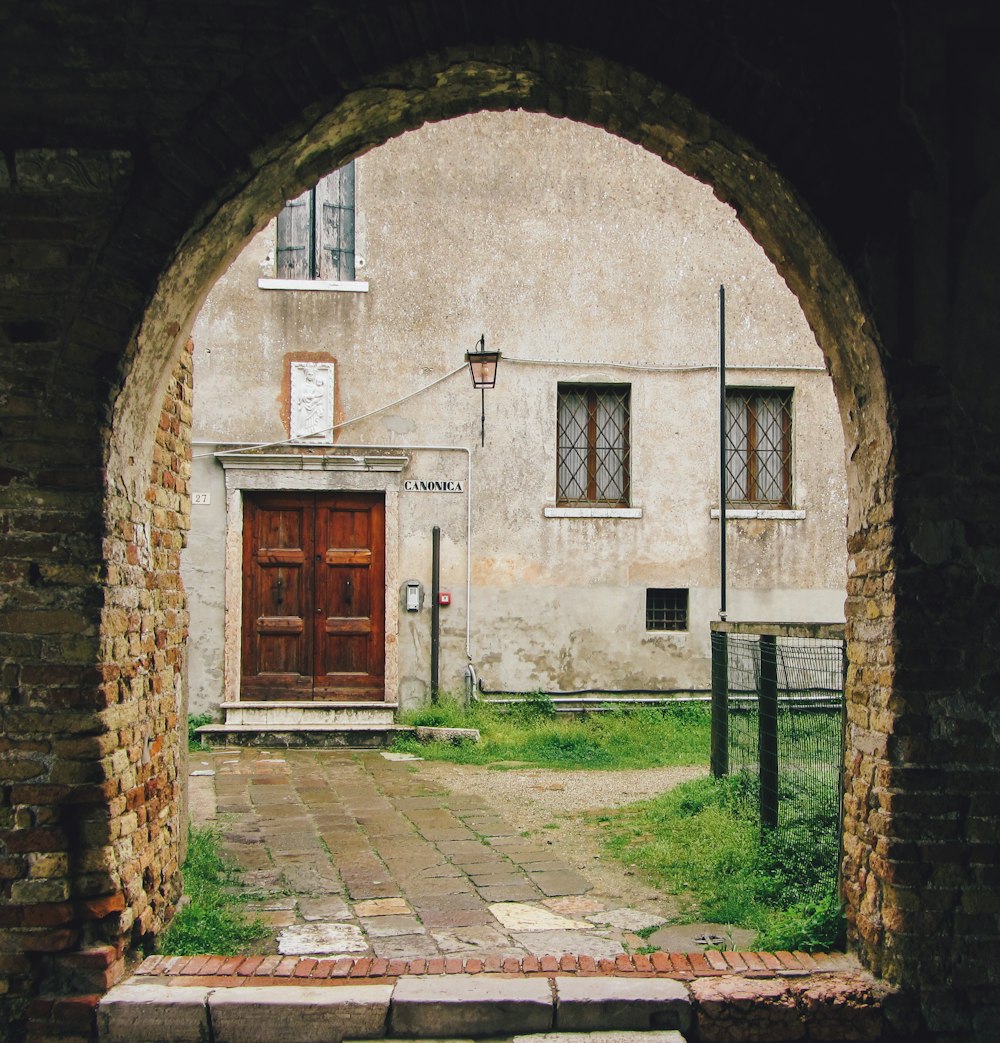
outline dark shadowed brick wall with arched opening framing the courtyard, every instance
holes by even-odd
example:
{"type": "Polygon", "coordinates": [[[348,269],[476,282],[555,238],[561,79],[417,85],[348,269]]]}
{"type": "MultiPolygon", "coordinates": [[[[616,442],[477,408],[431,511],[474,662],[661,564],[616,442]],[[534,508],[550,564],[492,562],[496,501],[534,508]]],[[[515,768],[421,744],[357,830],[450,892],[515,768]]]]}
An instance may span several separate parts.
{"type": "Polygon", "coordinates": [[[675,18],[626,2],[609,20],[372,2],[313,5],[308,39],[287,7],[55,0],[0,33],[5,1012],[53,997],[35,999],[39,1032],[64,1016],[75,1032],[87,1001],[54,997],[103,988],[169,915],[190,402],[163,417],[160,403],[200,293],[324,167],[488,104],[606,126],[710,181],[802,300],[850,459],[856,942],[938,1039],[996,1035],[1000,88],[985,6],[848,5],[818,35],[806,7],[778,32],[729,4],[675,18]]]}

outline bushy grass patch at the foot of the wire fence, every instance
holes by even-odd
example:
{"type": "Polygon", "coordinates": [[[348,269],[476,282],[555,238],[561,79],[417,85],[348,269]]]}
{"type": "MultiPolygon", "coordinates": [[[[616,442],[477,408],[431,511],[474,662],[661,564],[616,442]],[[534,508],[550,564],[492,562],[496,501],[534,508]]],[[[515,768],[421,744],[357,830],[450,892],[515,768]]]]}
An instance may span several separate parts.
{"type": "Polygon", "coordinates": [[[756,779],[696,779],[597,821],[614,857],[677,896],[687,919],[757,931],[762,949],[843,943],[835,809],[782,793],[787,825],[761,836],[756,779]]]}

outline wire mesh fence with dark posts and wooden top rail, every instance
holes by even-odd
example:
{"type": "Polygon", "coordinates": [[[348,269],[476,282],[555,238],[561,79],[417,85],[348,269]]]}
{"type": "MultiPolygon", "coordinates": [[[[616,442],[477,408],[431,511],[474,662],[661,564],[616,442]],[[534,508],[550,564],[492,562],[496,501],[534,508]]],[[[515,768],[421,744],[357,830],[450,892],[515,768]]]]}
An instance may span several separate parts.
{"type": "Polygon", "coordinates": [[[712,770],[756,777],[762,826],[839,828],[844,680],[840,626],[712,625],[712,770]]]}

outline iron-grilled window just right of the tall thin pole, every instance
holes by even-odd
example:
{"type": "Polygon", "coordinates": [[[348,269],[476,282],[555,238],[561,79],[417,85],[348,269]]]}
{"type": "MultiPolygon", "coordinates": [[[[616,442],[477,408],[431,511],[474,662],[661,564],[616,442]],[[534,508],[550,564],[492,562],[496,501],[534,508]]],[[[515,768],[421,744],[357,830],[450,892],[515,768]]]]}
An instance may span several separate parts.
{"type": "Polygon", "coordinates": [[[791,391],[727,388],[726,502],[791,506],[791,391]]]}

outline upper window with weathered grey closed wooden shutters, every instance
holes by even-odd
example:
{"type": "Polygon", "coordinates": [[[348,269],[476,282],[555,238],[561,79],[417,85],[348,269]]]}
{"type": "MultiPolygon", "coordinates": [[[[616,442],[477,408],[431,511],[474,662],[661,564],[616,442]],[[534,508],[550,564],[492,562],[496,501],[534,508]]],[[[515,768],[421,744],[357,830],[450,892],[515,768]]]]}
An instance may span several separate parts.
{"type": "Polygon", "coordinates": [[[355,164],[327,174],[277,215],[278,278],[355,277],[355,164]]]}

